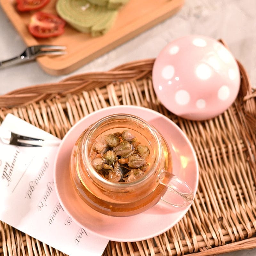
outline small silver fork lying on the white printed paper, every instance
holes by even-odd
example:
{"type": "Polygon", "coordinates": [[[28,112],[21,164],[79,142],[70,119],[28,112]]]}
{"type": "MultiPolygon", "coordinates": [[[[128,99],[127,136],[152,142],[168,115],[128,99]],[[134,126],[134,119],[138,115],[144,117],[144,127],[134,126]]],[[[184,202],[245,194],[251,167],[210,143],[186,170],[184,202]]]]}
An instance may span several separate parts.
{"type": "Polygon", "coordinates": [[[17,134],[11,131],[3,132],[0,140],[4,144],[10,144],[21,147],[43,147],[43,146],[59,146],[61,140],[44,140],[17,134]]]}

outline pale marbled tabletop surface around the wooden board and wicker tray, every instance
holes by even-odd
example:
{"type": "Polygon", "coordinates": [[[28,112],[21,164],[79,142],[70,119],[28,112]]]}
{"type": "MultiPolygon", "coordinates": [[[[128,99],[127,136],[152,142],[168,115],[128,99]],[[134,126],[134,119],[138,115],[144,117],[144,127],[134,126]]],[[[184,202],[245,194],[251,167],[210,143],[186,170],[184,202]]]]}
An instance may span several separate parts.
{"type": "MultiPolygon", "coordinates": [[[[0,94],[30,85],[58,82],[67,76],[79,73],[108,71],[128,61],[155,58],[168,42],[188,34],[225,40],[236,59],[247,70],[252,86],[256,87],[255,10],[255,0],[187,0],[183,8],[173,17],[69,75],[48,75],[36,62],[1,69],[0,94]]],[[[1,7],[0,24],[0,59],[4,60],[22,52],[25,44],[1,7]]],[[[223,255],[256,255],[256,249],[223,255]]]]}

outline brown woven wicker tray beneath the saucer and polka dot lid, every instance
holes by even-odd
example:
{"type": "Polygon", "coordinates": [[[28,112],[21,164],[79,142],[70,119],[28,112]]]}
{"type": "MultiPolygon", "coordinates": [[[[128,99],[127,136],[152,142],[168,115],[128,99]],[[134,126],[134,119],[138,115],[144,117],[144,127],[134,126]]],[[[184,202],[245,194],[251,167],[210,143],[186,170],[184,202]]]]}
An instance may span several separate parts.
{"type": "MultiPolygon", "coordinates": [[[[188,213],[164,234],[134,243],[110,241],[112,255],[214,255],[256,247],[256,94],[240,63],[241,89],[220,116],[202,122],[167,111],[153,91],[154,59],[109,72],[71,76],[0,97],[0,122],[7,113],[62,138],[83,116],[107,106],[131,104],[171,118],[187,134],[199,162],[199,186],[188,213]]],[[[0,255],[63,255],[0,222],[0,255]]]]}

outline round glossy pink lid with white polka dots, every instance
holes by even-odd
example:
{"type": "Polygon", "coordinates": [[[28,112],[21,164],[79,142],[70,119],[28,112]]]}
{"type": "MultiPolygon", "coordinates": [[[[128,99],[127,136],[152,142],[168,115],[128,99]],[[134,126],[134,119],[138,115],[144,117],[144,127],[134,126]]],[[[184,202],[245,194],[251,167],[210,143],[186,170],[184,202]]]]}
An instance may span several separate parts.
{"type": "Polygon", "coordinates": [[[189,35],[169,43],[152,71],[158,99],[172,113],[206,120],[223,113],[236,99],[240,72],[235,58],[219,41],[189,35]]]}

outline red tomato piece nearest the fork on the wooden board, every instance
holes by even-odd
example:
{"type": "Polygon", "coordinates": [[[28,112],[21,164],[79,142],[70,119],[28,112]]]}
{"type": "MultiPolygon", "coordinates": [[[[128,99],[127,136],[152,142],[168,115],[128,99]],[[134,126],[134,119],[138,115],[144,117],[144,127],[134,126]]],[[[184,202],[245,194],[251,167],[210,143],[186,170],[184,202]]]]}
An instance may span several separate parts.
{"type": "Polygon", "coordinates": [[[35,37],[47,38],[63,34],[65,24],[66,22],[56,15],[36,12],[31,17],[28,30],[35,37]]]}

